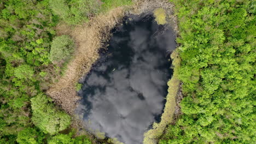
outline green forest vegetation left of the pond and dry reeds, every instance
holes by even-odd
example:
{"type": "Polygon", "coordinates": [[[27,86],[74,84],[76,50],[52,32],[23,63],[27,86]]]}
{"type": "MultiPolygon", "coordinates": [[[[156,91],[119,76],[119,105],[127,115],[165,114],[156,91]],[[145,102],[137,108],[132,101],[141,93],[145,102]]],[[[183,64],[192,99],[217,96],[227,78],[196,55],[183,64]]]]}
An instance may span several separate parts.
{"type": "Polygon", "coordinates": [[[0,2],[0,143],[91,143],[73,132],[59,134],[70,129],[71,118],[43,94],[74,49],[67,35],[56,37],[55,27],[59,22],[74,26],[130,2],[0,2]]]}

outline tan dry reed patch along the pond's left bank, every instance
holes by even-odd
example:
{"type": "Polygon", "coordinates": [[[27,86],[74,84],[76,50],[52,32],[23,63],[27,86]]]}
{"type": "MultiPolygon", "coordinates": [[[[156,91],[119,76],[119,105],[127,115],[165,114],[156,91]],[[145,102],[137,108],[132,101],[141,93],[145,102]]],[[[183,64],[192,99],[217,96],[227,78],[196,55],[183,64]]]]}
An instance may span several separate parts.
{"type": "Polygon", "coordinates": [[[108,40],[110,30],[123,18],[124,9],[115,8],[77,27],[66,25],[57,27],[59,34],[71,35],[77,48],[74,58],[67,65],[66,73],[46,93],[69,114],[73,113],[79,100],[75,84],[97,61],[98,50],[103,46],[104,41],[108,40]]]}

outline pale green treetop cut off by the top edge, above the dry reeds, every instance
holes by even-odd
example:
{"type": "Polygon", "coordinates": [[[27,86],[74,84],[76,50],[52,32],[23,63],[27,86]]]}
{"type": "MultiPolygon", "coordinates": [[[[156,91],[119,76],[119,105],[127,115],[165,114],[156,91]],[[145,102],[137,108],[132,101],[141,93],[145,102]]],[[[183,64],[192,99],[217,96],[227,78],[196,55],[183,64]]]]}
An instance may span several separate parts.
{"type": "Polygon", "coordinates": [[[54,14],[69,24],[87,21],[88,17],[97,12],[99,3],[95,0],[55,0],[49,1],[54,14]]]}

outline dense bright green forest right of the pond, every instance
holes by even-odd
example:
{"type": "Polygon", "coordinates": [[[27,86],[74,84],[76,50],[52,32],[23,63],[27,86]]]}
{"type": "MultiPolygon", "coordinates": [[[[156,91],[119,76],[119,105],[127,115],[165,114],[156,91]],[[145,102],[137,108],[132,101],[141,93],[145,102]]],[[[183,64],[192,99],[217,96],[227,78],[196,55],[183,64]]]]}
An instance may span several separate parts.
{"type": "Polygon", "coordinates": [[[255,1],[172,1],[183,115],[165,143],[255,143],[255,1]]]}

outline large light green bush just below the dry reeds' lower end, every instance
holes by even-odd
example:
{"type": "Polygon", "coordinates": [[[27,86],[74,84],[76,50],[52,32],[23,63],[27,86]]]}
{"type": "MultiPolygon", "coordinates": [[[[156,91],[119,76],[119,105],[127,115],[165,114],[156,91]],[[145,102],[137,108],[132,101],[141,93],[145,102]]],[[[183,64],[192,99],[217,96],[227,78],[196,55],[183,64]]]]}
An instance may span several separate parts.
{"type": "Polygon", "coordinates": [[[44,94],[38,94],[31,99],[32,121],[44,133],[51,135],[66,129],[71,118],[67,113],[56,109],[51,103],[51,99],[44,94]]]}

